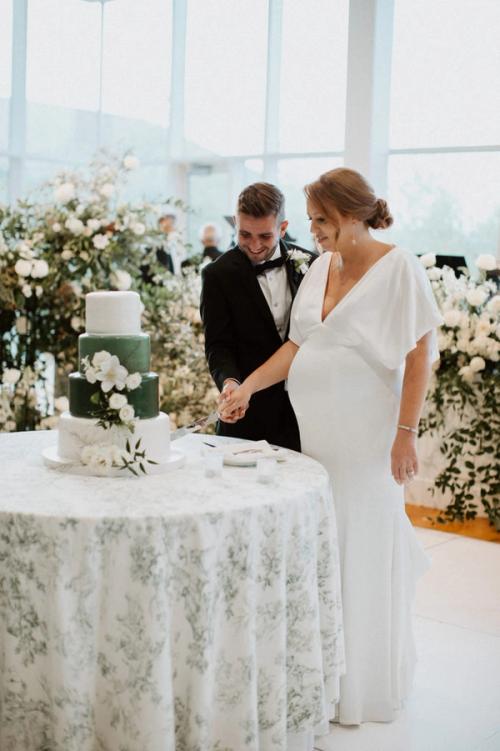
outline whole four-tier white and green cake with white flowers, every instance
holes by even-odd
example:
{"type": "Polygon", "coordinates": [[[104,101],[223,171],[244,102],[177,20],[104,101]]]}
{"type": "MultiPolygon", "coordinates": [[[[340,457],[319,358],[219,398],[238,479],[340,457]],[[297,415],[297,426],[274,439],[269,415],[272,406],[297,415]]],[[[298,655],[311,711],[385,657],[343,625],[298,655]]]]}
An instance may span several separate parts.
{"type": "Polygon", "coordinates": [[[158,375],[149,370],[140,297],[91,292],[85,305],[86,333],[78,338],[79,370],[69,377],[69,411],[59,420],[57,450],[44,456],[52,466],[55,459],[94,474],[161,471],[179,457],[170,448],[168,416],[159,411],[158,375]]]}

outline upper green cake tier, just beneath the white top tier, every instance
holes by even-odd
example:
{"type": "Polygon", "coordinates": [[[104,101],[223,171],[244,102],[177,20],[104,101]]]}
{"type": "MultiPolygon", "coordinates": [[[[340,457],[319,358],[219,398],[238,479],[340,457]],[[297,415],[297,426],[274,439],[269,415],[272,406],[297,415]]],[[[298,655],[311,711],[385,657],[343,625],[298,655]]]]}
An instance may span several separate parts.
{"type": "Polygon", "coordinates": [[[147,373],[150,368],[151,345],[149,334],[80,334],[78,337],[78,367],[82,370],[82,359],[92,360],[96,352],[105,350],[116,355],[120,365],[129,373],[147,373]]]}

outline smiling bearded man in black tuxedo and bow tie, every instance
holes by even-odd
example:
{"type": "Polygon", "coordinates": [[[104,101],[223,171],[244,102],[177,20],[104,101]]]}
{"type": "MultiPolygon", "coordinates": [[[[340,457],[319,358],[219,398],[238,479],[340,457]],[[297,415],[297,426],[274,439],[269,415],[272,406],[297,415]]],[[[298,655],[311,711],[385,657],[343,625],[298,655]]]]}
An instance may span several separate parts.
{"type": "MultiPolygon", "coordinates": [[[[238,197],[238,244],[203,270],[201,317],[212,378],[229,393],[286,340],[293,298],[316,257],[284,242],[285,197],[254,183],[238,197]]],[[[297,421],[281,382],[254,395],[239,422],[219,435],[260,440],[300,451],[297,421]]]]}

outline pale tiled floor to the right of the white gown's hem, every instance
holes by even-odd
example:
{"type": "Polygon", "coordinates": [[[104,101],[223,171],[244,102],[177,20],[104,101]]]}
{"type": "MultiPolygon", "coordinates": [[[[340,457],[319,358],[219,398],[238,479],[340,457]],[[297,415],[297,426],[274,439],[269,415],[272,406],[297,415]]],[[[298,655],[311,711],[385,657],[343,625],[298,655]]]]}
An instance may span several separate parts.
{"type": "Polygon", "coordinates": [[[416,531],[432,567],[417,590],[411,699],[388,725],[331,725],[321,751],[500,751],[500,545],[416,531]]]}

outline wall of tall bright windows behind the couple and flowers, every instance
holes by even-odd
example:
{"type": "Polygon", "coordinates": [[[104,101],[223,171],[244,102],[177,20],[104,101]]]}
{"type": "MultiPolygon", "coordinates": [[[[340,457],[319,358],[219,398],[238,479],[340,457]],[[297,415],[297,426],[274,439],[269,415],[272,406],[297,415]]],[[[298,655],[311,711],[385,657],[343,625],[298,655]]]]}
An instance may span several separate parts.
{"type": "Polygon", "coordinates": [[[394,0],[382,29],[370,27],[368,13],[364,28],[350,19],[349,0],[26,6],[23,28],[24,2],[0,0],[0,200],[88,163],[98,148],[130,150],[141,167],[126,197],[163,201],[177,185],[192,209],[180,225],[193,246],[205,221],[217,221],[229,242],[224,216],[239,191],[268,180],[286,194],[291,234],[311,247],[304,184],[343,164],[344,153],[354,162],[356,148],[372,149],[382,158],[379,174],[368,166],[367,176],[387,183],[390,238],[418,252],[497,251],[497,0],[394,0]],[[392,73],[367,55],[367,79],[390,96],[390,118],[382,134],[379,121],[361,129],[360,145],[350,135],[357,118],[371,117],[362,106],[366,81],[348,66],[365,59],[374,38],[392,73]],[[11,97],[22,120],[12,128],[11,97]]]}

